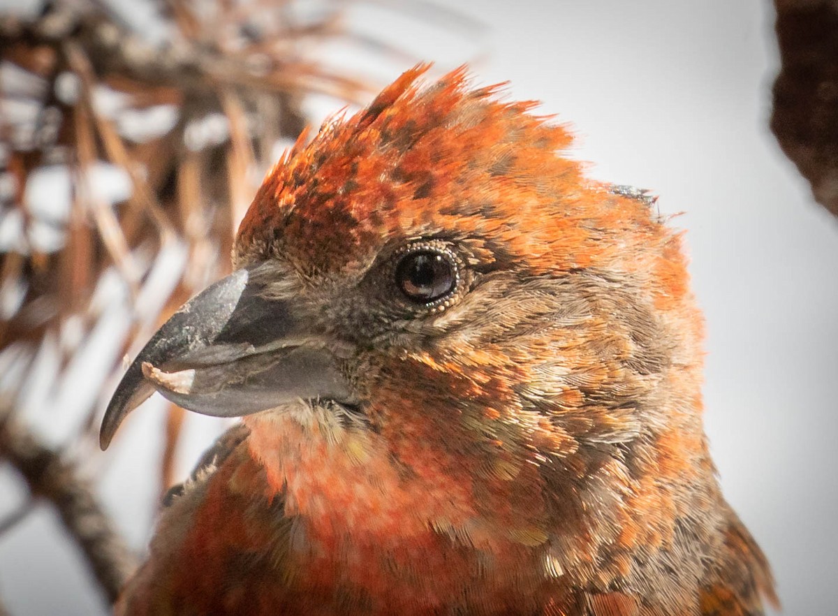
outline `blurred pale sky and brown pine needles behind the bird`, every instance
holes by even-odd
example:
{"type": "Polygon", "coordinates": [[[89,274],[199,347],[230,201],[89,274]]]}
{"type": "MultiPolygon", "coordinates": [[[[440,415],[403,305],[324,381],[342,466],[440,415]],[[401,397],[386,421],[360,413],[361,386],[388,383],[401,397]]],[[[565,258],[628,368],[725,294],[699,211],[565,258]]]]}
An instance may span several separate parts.
{"type": "Polygon", "coordinates": [[[129,569],[161,491],[224,427],[153,396],[101,453],[123,355],[229,270],[235,225],[303,125],[417,60],[509,80],[572,123],[593,177],[683,213],[725,494],[784,613],[835,613],[838,220],[768,129],[773,24],[759,0],[0,0],[8,613],[107,613],[115,580],[91,557],[129,569]]]}

